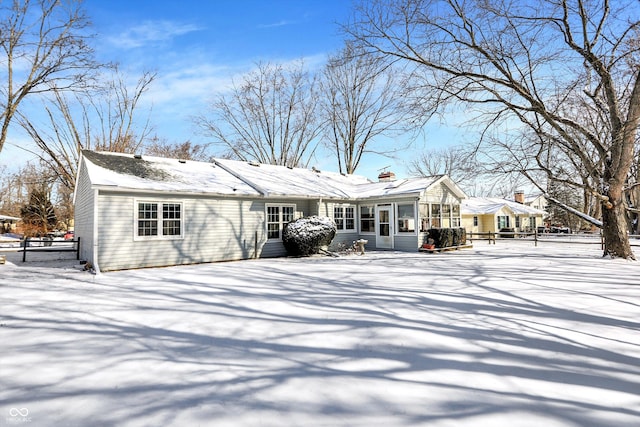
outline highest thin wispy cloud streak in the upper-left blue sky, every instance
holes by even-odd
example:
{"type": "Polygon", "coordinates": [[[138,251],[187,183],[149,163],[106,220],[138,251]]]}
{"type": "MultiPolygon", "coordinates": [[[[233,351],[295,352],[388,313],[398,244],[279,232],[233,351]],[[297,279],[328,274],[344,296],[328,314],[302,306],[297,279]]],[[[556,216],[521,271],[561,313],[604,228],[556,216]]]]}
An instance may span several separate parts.
{"type": "Polygon", "coordinates": [[[172,21],[145,21],[140,25],[131,27],[118,36],[109,37],[108,40],[121,49],[135,49],[149,44],[167,42],[202,28],[194,24],[181,24],[172,21]]]}

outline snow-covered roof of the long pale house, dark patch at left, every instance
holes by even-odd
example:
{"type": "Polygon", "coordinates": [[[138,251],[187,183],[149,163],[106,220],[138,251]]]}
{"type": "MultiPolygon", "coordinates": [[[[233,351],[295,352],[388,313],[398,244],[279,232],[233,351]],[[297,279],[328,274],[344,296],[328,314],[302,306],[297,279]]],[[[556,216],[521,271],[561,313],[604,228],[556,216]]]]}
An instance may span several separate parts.
{"type": "Polygon", "coordinates": [[[227,159],[208,163],[88,150],[82,154],[92,185],[122,190],[355,200],[419,195],[446,179],[454,193],[466,197],[446,176],[371,182],[359,175],[227,159]]]}

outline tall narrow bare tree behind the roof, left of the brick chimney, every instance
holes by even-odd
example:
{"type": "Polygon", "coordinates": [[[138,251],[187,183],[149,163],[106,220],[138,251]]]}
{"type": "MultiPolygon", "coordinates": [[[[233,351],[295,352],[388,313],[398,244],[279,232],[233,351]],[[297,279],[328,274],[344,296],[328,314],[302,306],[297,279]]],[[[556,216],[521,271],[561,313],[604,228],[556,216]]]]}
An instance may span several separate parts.
{"type": "Polygon", "coordinates": [[[321,80],[324,136],[341,173],[352,174],[377,137],[406,131],[409,118],[401,74],[389,61],[352,43],[329,58],[321,80]]]}

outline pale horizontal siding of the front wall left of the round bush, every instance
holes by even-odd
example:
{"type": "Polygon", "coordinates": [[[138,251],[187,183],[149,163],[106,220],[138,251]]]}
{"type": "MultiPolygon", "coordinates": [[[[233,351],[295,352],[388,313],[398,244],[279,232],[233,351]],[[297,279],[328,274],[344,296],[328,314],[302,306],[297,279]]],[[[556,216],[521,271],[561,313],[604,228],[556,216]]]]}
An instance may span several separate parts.
{"type": "MultiPolygon", "coordinates": [[[[264,200],[101,193],[99,203],[103,271],[286,255],[280,240],[266,239],[264,200]],[[183,203],[184,238],[134,241],[135,201],[183,203]]],[[[306,200],[281,203],[296,204],[296,218],[307,215],[306,200]]]]}

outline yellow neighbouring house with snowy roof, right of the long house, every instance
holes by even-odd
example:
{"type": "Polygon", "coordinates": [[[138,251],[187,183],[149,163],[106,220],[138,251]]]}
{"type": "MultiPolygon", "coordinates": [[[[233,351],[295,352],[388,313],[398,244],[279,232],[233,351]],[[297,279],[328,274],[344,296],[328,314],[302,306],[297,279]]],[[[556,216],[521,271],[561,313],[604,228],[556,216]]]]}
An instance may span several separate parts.
{"type": "Polygon", "coordinates": [[[532,232],[543,225],[545,215],[543,210],[495,197],[462,201],[462,226],[468,233],[495,233],[503,228],[532,232]]]}

